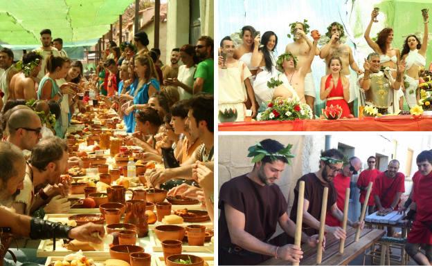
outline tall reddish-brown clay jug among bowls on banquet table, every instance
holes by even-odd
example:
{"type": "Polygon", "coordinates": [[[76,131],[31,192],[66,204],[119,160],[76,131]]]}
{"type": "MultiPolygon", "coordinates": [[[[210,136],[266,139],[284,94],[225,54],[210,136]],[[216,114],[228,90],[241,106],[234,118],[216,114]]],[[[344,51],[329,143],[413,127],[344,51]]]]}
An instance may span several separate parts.
{"type": "Polygon", "coordinates": [[[125,223],[135,225],[138,229],[138,238],[148,234],[147,216],[145,216],[145,200],[127,200],[125,223]]]}

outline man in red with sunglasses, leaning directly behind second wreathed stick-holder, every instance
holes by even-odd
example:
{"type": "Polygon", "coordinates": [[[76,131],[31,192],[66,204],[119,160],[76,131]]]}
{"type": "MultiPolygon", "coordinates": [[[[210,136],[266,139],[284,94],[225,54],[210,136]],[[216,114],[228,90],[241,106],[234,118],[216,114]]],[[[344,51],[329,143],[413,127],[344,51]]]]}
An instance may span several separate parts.
{"type": "MultiPolygon", "coordinates": [[[[352,157],[348,162],[343,162],[342,171],[334,177],[333,185],[337,193],[336,205],[341,210],[343,210],[345,205],[345,191],[350,187],[352,175],[357,175],[360,169],[361,160],[357,157],[352,157]]],[[[340,227],[342,222],[332,215],[332,210],[327,210],[325,224],[331,227],[340,227]]]]}

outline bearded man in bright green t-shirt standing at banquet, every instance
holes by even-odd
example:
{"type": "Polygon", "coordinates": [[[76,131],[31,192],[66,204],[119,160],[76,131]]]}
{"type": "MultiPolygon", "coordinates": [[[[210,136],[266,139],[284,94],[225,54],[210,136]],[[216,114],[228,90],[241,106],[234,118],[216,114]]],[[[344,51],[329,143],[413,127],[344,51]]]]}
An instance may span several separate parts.
{"type": "Polygon", "coordinates": [[[201,36],[198,39],[195,52],[197,53],[197,57],[201,59],[201,63],[198,64],[195,71],[192,94],[201,92],[213,94],[213,46],[213,39],[211,37],[201,36]]]}

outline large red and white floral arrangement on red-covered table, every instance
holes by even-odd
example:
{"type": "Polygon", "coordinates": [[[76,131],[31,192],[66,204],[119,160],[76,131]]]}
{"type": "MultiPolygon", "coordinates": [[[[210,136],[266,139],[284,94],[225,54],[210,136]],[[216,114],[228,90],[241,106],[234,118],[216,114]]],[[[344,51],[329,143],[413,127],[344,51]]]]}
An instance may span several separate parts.
{"type": "Polygon", "coordinates": [[[258,115],[258,120],[296,120],[312,119],[312,110],[307,104],[288,99],[273,99],[264,112],[258,115]]]}

